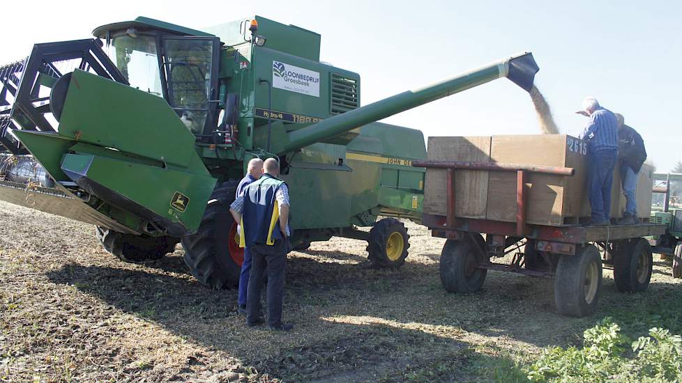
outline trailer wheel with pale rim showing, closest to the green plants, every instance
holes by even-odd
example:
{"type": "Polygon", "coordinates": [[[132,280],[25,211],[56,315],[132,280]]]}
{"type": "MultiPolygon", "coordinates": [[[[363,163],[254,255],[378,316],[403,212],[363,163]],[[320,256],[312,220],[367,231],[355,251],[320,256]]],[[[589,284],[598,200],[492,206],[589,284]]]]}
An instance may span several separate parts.
{"type": "Polygon", "coordinates": [[[602,287],[599,251],[589,244],[575,255],[562,255],[556,266],[554,303],[559,313],[583,317],[594,313],[602,287]]]}

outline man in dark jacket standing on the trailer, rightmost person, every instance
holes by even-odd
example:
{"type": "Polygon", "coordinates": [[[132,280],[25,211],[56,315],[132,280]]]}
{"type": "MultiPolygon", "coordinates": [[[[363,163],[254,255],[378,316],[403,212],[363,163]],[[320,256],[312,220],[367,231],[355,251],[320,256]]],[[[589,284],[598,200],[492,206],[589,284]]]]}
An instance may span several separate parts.
{"type": "Polygon", "coordinates": [[[619,225],[637,223],[637,175],[646,160],[646,149],[642,136],[628,125],[625,118],[616,114],[618,120],[618,154],[621,160],[621,185],[623,194],[626,196],[626,211],[623,218],[619,219],[619,225]]]}

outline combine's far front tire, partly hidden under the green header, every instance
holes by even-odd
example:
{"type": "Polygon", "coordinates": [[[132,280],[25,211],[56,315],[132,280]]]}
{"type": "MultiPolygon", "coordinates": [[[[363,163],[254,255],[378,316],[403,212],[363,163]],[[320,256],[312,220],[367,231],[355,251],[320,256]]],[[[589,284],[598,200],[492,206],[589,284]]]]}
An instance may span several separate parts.
{"type": "Polygon", "coordinates": [[[130,263],[161,259],[175,251],[175,245],[180,242],[174,237],[124,234],[100,226],[97,226],[96,235],[106,251],[130,263]]]}

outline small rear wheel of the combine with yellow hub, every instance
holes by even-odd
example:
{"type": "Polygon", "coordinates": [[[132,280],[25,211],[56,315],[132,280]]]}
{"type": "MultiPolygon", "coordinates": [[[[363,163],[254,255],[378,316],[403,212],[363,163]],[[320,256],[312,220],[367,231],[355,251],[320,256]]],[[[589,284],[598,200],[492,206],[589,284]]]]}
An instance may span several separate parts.
{"type": "Polygon", "coordinates": [[[395,218],[384,218],[374,224],[367,240],[368,258],[377,267],[395,268],[405,263],[409,249],[407,228],[395,218]]]}

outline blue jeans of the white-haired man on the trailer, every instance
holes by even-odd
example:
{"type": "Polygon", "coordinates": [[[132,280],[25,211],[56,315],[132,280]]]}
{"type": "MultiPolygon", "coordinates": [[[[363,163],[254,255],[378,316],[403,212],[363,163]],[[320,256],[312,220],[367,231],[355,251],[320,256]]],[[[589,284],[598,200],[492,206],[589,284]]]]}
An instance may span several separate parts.
{"type": "Polygon", "coordinates": [[[589,162],[587,185],[592,208],[592,222],[608,222],[611,220],[611,184],[616,167],[616,150],[596,150],[587,160],[589,162]]]}

